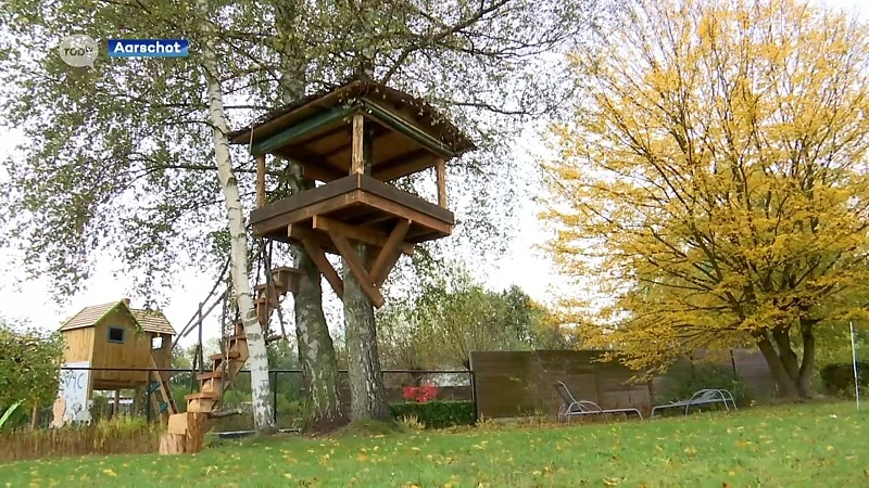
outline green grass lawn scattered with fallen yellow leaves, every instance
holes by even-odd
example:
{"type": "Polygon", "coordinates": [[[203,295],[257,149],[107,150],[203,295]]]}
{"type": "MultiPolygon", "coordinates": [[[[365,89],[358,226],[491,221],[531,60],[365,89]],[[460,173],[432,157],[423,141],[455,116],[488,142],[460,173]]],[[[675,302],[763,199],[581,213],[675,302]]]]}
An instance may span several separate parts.
{"type": "Polygon", "coordinates": [[[0,465],[2,486],[869,486],[869,414],[853,403],[461,433],[280,437],[196,455],[0,465]]]}

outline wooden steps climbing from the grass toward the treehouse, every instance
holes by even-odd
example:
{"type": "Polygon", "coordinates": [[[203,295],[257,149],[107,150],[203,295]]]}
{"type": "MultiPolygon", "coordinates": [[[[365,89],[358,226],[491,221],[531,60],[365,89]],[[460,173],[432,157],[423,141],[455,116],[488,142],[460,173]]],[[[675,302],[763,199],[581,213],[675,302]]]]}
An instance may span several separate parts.
{"type": "MultiPolygon", "coordinates": [[[[266,335],[268,319],[272,312],[280,306],[282,298],[288,293],[299,290],[299,273],[294,268],[280,267],[272,270],[269,284],[254,286],[256,299],[256,318],[266,335]]],[[[173,413],[168,420],[168,432],[160,439],[161,454],[177,454],[181,452],[199,452],[205,435],[205,420],[213,416],[215,408],[224,391],[235,382],[238,373],[250,357],[248,337],[241,321],[235,323],[232,335],[225,337],[225,352],[212,355],[211,371],[200,373],[198,393],[187,395],[187,410],[184,413],[173,413]]],[[[177,412],[177,409],[175,410],[177,412]]]]}

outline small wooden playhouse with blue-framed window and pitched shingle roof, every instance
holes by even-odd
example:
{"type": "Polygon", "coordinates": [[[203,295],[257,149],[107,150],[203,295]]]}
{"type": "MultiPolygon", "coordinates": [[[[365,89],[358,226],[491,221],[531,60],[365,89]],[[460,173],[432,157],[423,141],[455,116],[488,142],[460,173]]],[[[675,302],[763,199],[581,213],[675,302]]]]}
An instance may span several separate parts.
{"type": "MultiPolygon", "coordinates": [[[[147,371],[172,368],[175,329],[162,312],[130,308],[124,298],[85,307],[60,333],[66,346],[64,364],[83,368],[74,372],[85,378],[87,400],[95,390],[114,390],[117,401],[121,389],[136,390],[138,399],[143,388],[166,387],[169,372],[147,371]]],[[[174,410],[168,403],[171,399],[160,409],[174,410]]]]}

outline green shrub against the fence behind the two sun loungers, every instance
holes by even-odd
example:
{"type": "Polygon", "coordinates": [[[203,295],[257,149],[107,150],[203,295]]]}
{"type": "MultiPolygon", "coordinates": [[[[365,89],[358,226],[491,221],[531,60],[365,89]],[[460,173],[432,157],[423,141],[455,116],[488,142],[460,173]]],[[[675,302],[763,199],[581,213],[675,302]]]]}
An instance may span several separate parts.
{"type": "Polygon", "coordinates": [[[752,402],[748,385],[730,367],[715,363],[679,364],[665,376],[664,388],[656,391],[655,402],[688,400],[701,389],[726,389],[739,407],[752,402]]]}

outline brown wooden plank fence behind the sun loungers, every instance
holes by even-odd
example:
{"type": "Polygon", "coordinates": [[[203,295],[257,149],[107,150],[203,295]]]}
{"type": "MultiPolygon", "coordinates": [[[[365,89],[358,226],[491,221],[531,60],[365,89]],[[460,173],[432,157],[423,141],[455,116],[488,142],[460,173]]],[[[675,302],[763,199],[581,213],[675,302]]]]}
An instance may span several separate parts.
{"type": "MultiPolygon", "coordinates": [[[[638,380],[635,371],[618,362],[599,361],[600,355],[591,350],[471,352],[478,416],[554,415],[562,404],[554,387],[558,381],[578,400],[591,400],[605,409],[637,408],[647,414],[655,402],[654,391],[660,390],[666,376],[638,380]]],[[[772,377],[759,352],[739,350],[731,359],[730,351],[725,351],[714,357],[698,355],[695,359],[701,357],[733,364],[736,374],[758,398],[770,391],[772,377]]]]}

